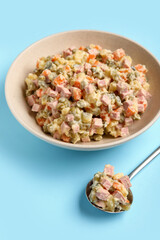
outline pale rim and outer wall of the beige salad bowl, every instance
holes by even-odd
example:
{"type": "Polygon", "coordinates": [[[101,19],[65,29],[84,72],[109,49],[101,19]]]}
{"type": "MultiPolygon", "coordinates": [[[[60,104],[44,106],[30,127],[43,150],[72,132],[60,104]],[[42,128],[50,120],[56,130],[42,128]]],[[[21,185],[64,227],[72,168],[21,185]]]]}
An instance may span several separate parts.
{"type": "Polygon", "coordinates": [[[158,111],[158,113],[155,115],[155,117],[152,119],[152,121],[150,121],[146,126],[144,126],[143,128],[141,128],[139,131],[137,131],[136,133],[133,133],[127,137],[121,137],[121,138],[117,138],[117,141],[115,142],[110,142],[110,143],[101,143],[96,145],[87,145],[87,143],[85,144],[73,144],[73,143],[66,143],[60,140],[56,140],[54,138],[49,139],[48,135],[46,135],[43,131],[42,134],[37,133],[36,130],[34,130],[32,127],[30,127],[26,122],[24,122],[16,113],[14,107],[11,104],[10,98],[8,96],[8,84],[9,84],[9,75],[10,72],[12,71],[12,69],[14,68],[14,65],[16,64],[16,62],[18,61],[18,59],[21,57],[22,54],[25,54],[25,52],[27,52],[30,48],[34,47],[34,45],[36,45],[37,43],[40,43],[42,41],[45,41],[47,39],[52,38],[53,36],[60,36],[63,34],[67,34],[67,33],[78,33],[78,32],[97,32],[97,33],[105,33],[105,34],[109,34],[109,35],[113,35],[116,37],[120,37],[124,40],[130,41],[131,43],[134,43],[135,45],[141,47],[143,50],[145,50],[147,53],[149,53],[153,59],[158,63],[159,67],[160,67],[160,62],[158,61],[158,59],[145,47],[143,47],[141,44],[137,43],[136,41],[133,41],[127,37],[124,37],[122,35],[116,34],[116,33],[112,33],[112,32],[107,32],[107,31],[99,31],[99,30],[87,30],[87,29],[80,29],[80,30],[71,30],[71,31],[65,31],[65,32],[59,32],[59,33],[55,33],[55,34],[51,34],[47,37],[41,38],[40,40],[32,43],[31,45],[29,45],[28,47],[26,47],[22,52],[20,52],[17,57],[15,58],[15,60],[12,62],[12,64],[10,65],[10,68],[7,72],[6,75],[6,80],[5,80],[5,98],[6,98],[6,102],[7,105],[11,111],[11,113],[13,114],[13,116],[15,117],[15,119],[25,128],[27,129],[30,133],[32,133],[34,136],[40,138],[43,141],[46,141],[52,145],[55,146],[59,146],[62,148],[67,148],[67,149],[72,149],[72,150],[84,150],[84,151],[90,151],[90,150],[101,150],[101,149],[107,149],[107,148],[111,148],[111,147],[115,147],[118,146],[122,143],[125,143],[137,136],[139,136],[140,134],[142,134],[143,132],[145,132],[148,128],[150,128],[159,118],[160,116],[160,109],[158,111]]]}

